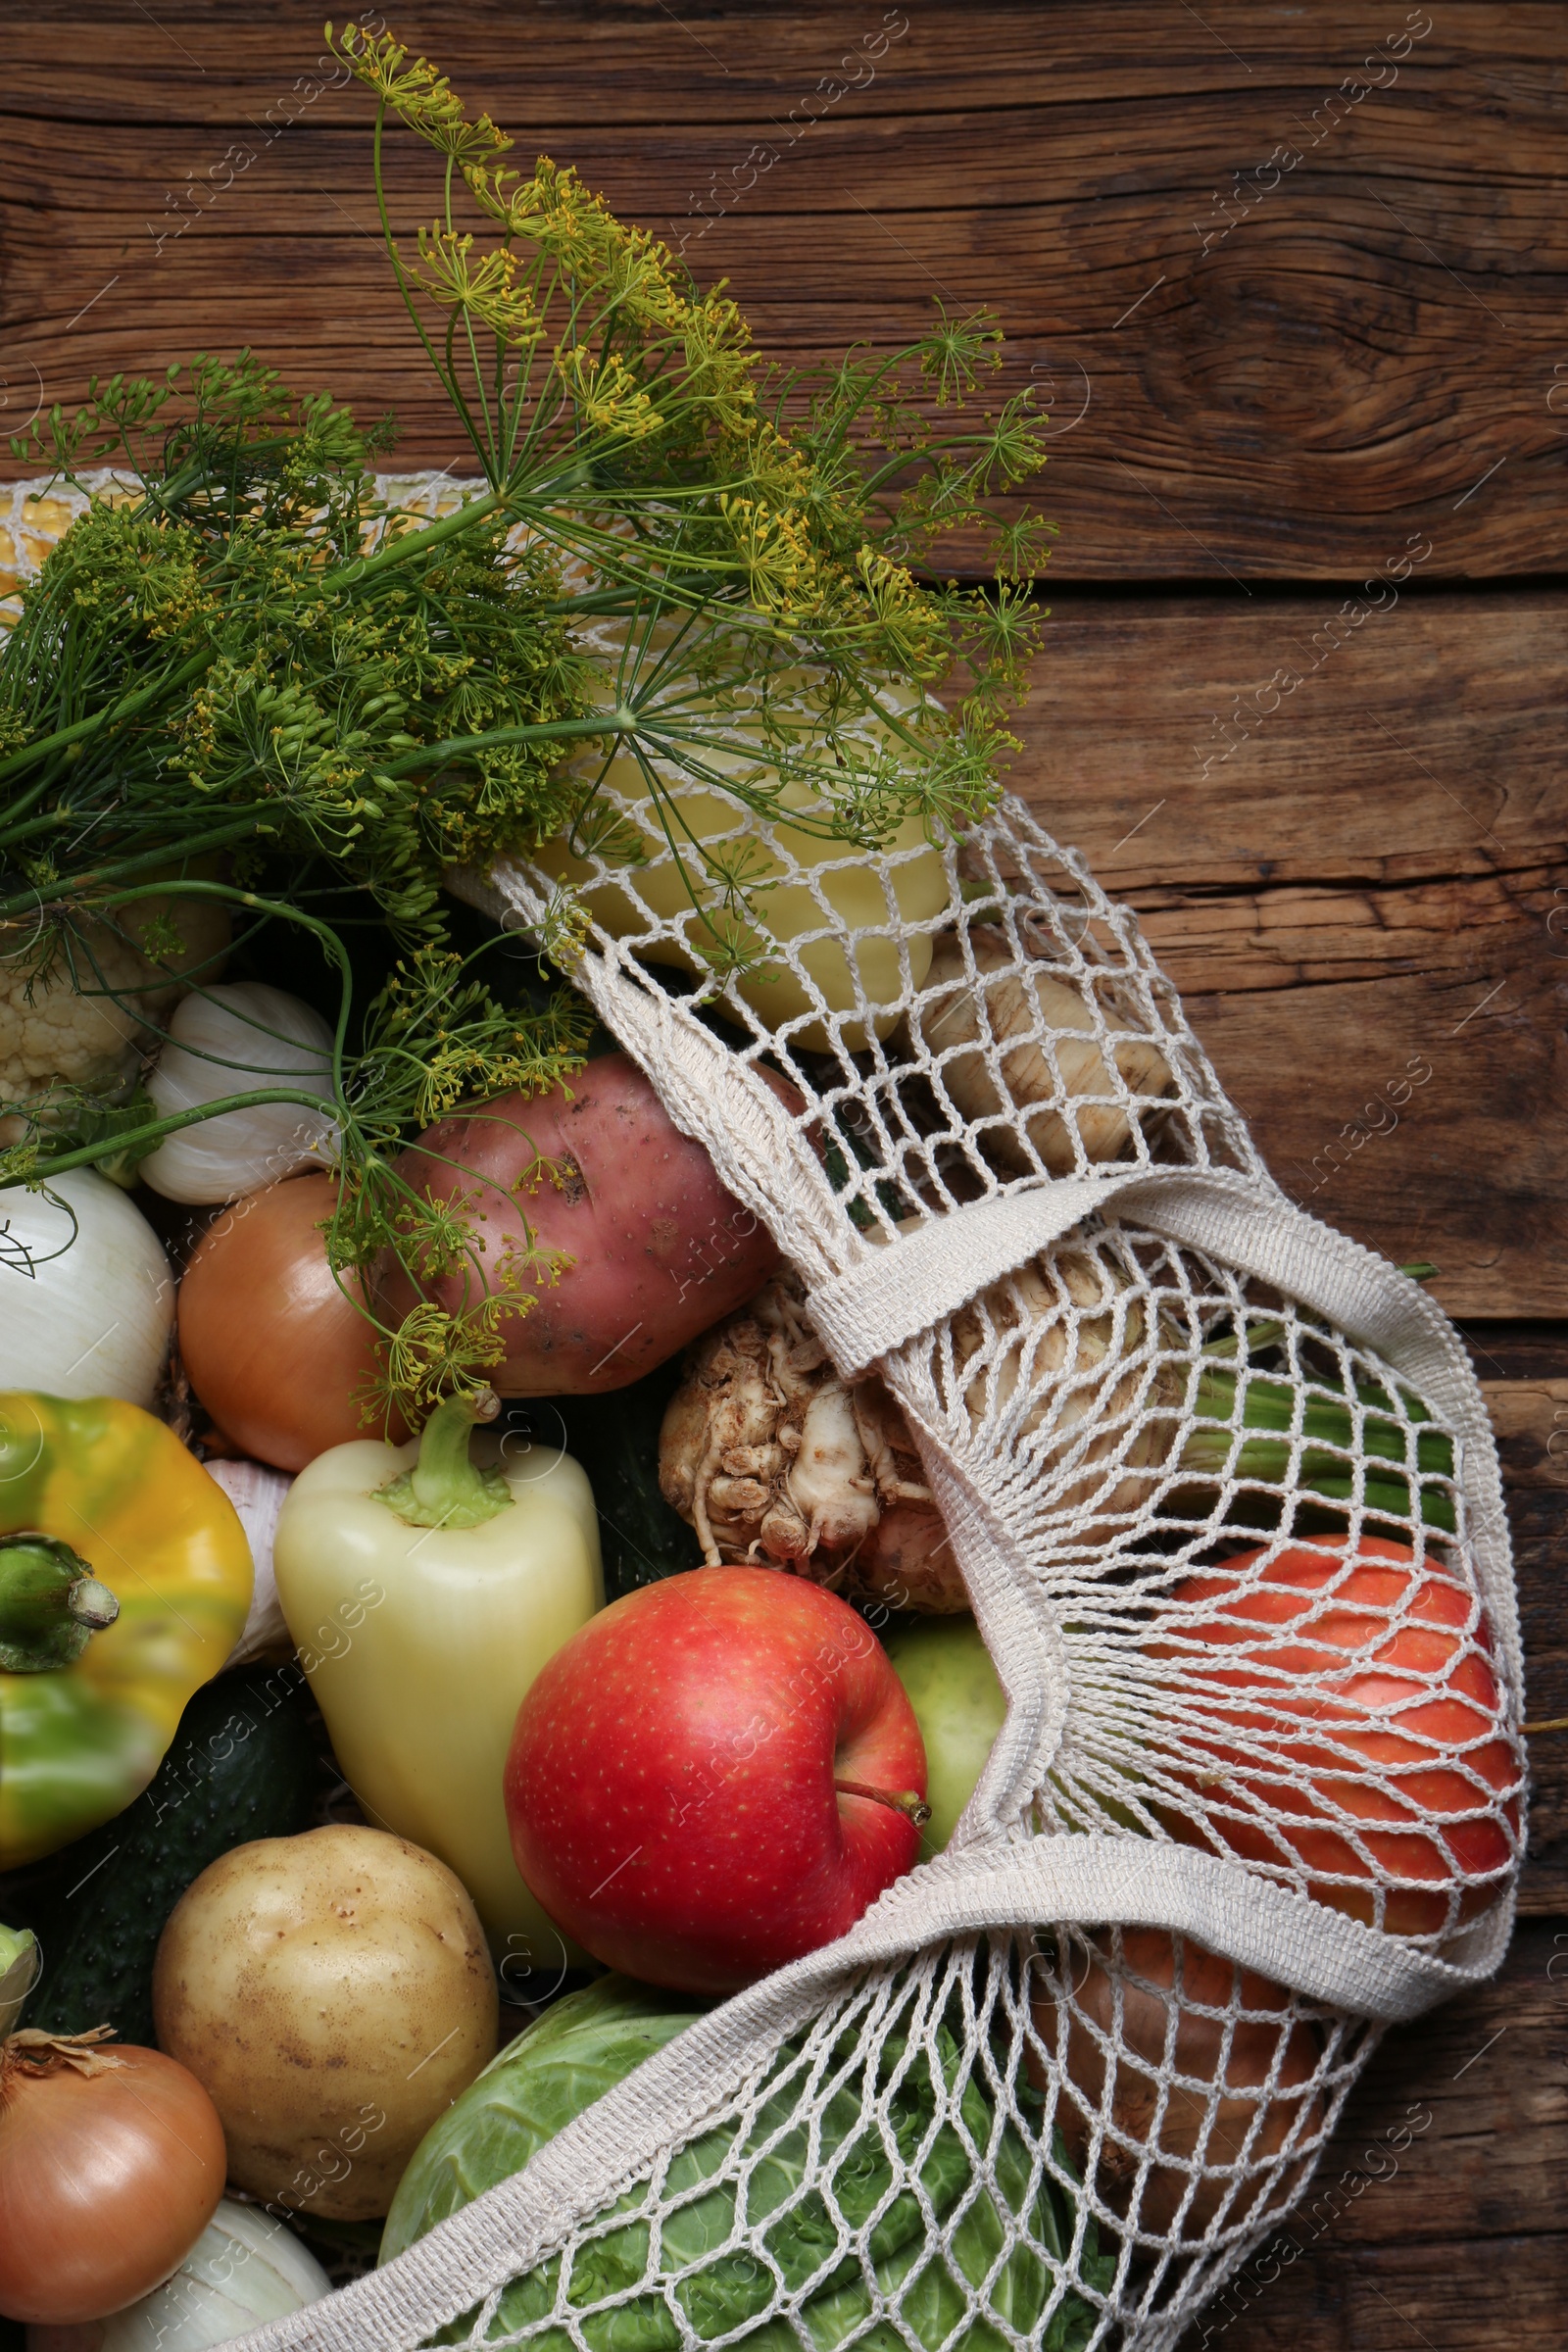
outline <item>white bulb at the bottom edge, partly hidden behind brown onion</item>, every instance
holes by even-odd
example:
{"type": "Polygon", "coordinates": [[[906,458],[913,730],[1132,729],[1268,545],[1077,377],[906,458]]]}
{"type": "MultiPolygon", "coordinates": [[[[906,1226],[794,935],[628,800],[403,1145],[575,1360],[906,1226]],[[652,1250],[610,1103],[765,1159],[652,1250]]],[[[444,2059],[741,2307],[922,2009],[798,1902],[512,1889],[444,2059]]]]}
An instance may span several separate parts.
{"type": "Polygon", "coordinates": [[[329,2291],[322,2265],[280,2220],[226,2197],[150,2296],[85,2326],[28,2328],[28,2352],[209,2352],[329,2291]]]}

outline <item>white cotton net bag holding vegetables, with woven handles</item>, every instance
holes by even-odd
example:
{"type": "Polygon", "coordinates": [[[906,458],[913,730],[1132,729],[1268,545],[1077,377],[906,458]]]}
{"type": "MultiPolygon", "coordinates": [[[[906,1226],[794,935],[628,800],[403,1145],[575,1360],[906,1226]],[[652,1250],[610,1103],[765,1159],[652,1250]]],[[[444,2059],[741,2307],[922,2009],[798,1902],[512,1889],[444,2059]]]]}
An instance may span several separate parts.
{"type": "MultiPolygon", "coordinates": [[[[1269,1181],[1133,920],[1016,802],[947,851],[776,828],[783,946],[698,997],[672,840],[755,826],[663,783],[663,835],[611,762],[597,847],[456,887],[559,938],[581,884],[574,976],[773,1230],[802,1378],[884,1383],[884,1501],[940,1512],[1009,1717],[947,1853],[849,1936],[249,2343],[1157,2352],[1300,2194],[1380,2027],[1507,1945],[1479,1388],[1410,1279],[1269,1181]]],[[[710,1557],[835,1581],[788,1463],[719,1456],[710,1557]]]]}

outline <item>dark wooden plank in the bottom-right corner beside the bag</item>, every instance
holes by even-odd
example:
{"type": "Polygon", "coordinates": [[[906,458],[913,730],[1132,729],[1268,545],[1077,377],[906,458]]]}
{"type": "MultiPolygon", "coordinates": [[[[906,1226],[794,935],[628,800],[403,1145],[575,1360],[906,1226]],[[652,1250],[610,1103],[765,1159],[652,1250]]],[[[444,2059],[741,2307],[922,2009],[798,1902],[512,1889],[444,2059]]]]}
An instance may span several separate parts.
{"type": "Polygon", "coordinates": [[[1481,1992],[1389,2034],[1279,2237],[1182,2352],[1559,2352],[1568,1933],[1519,1931],[1481,1992]]]}

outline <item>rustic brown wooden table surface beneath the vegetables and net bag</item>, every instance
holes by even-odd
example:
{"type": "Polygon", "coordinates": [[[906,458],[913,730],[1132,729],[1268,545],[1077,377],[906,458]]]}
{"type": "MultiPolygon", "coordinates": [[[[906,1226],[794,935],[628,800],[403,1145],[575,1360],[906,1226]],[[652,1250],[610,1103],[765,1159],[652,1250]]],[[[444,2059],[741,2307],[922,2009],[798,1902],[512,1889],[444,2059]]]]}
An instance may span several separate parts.
{"type": "MultiPolygon", "coordinates": [[[[1001,315],[1060,524],[1013,781],[1140,908],[1281,1181],[1441,1268],[1530,1715],[1568,1712],[1559,0],[409,0],[393,31],[771,350],[1001,315]]],[[[395,407],[400,463],[461,456],[313,7],[12,0],[5,33],[0,423],[252,343],[395,407]]],[[[1505,1973],[1385,2046],[1293,2251],[1192,2345],[1568,2338],[1568,1740],[1533,1755],[1505,1973]]]]}

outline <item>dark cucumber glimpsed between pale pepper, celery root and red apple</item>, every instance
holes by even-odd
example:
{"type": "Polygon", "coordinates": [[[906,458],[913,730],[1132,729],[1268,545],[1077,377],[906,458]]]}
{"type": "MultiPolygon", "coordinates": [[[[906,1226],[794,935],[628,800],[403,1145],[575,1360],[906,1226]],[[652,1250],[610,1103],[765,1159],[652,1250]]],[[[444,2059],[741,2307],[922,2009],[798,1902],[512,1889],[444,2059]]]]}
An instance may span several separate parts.
{"type": "Polygon", "coordinates": [[[679,1357],[604,1397],[531,1397],[508,1423],[581,1463],[599,1512],[604,1599],[703,1566],[703,1545],[658,1491],[658,1425],[682,1381],[679,1357]]]}

